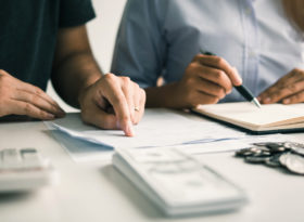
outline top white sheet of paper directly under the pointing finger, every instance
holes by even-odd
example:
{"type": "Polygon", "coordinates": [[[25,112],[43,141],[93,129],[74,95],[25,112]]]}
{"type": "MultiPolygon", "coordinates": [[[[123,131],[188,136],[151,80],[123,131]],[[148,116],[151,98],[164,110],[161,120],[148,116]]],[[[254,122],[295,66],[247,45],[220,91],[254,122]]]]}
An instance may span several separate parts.
{"type": "Polygon", "coordinates": [[[148,109],[128,138],[121,130],[100,130],[81,123],[78,114],[53,121],[52,127],[73,138],[113,147],[150,147],[238,139],[245,134],[216,122],[194,121],[166,109],[148,109]]]}

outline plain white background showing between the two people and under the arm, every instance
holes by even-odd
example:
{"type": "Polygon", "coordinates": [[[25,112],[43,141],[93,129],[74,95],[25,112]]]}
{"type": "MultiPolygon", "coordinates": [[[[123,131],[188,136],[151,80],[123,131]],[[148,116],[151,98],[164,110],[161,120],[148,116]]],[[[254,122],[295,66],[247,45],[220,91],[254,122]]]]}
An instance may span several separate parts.
{"type": "MultiPolygon", "coordinates": [[[[91,48],[96,60],[104,73],[111,67],[112,54],[117,28],[126,0],[92,0],[97,17],[87,25],[91,48]]],[[[50,94],[65,112],[77,109],[64,103],[49,82],[47,93],[50,94]]]]}

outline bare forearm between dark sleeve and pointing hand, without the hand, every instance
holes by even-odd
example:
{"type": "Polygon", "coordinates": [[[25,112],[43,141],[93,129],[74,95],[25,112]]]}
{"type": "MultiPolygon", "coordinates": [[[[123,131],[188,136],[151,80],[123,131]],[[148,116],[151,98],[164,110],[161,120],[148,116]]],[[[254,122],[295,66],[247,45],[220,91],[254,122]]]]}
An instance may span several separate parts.
{"type": "Polygon", "coordinates": [[[79,92],[94,83],[101,75],[86,26],[59,29],[51,80],[60,96],[79,108],[79,92]]]}

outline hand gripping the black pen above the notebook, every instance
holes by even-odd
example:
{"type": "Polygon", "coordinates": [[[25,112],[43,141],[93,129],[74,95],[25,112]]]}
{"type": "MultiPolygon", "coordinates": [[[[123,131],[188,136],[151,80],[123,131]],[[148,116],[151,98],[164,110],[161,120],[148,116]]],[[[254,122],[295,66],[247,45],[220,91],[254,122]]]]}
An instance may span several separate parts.
{"type": "Polygon", "coordinates": [[[191,108],[199,104],[214,104],[240,86],[236,68],[215,55],[198,54],[188,65],[179,82],[175,86],[176,107],[191,108]]]}

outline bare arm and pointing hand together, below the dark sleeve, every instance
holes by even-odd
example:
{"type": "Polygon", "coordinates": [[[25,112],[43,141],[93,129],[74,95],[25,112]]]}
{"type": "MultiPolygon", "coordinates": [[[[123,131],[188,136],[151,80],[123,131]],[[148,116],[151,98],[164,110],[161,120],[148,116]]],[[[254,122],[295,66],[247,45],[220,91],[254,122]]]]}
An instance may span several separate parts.
{"type": "Polygon", "coordinates": [[[85,122],[132,135],[131,125],[143,115],[143,90],[127,77],[102,75],[85,25],[59,30],[51,80],[68,104],[81,108],[85,122]]]}

